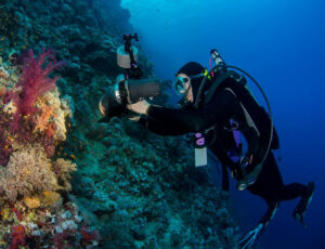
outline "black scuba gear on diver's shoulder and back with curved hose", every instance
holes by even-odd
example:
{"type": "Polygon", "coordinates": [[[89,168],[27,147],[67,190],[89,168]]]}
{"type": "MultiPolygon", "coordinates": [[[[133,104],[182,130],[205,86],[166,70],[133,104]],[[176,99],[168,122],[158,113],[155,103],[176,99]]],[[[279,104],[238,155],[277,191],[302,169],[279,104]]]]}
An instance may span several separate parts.
{"type": "Polygon", "coordinates": [[[247,108],[247,112],[259,129],[261,141],[266,144],[264,149],[265,153],[260,162],[260,165],[262,165],[266,159],[270,149],[277,149],[280,147],[278,136],[273,126],[272,110],[268,97],[260,84],[249,74],[238,67],[225,65],[217,50],[211,50],[210,54],[216,66],[205,75],[199,87],[194,107],[198,108],[200,105],[208,103],[217,91],[230,88],[236,94],[238,101],[243,103],[245,108],[247,108]],[[229,69],[236,69],[255,82],[265,100],[270,116],[265,109],[258,104],[257,100],[248,89],[247,80],[244,75],[229,69]],[[210,84],[210,87],[208,91],[205,92],[204,89],[206,89],[206,84],[210,84]]]}

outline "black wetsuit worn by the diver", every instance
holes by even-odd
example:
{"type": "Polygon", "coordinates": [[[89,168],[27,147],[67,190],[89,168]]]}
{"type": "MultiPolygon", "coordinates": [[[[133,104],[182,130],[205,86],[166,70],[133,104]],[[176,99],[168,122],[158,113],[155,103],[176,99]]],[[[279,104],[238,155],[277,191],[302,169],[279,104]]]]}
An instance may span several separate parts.
{"type": "MultiPolygon", "coordinates": [[[[253,156],[249,166],[250,170],[262,160],[265,154],[270,137],[270,120],[262,107],[255,106],[256,112],[252,113],[253,108],[250,104],[257,105],[257,103],[243,86],[238,87],[238,83],[232,79],[229,79],[223,86],[209,103],[198,109],[193,106],[182,109],[151,106],[147,117],[142,118],[141,123],[161,135],[181,135],[209,130],[206,132],[208,148],[223,166],[225,179],[223,188],[227,189],[226,167],[230,170],[238,167],[227,155],[227,152],[235,147],[233,133],[230,131],[232,128],[230,119],[236,123],[236,128],[244,134],[248,143],[246,156],[248,158],[253,156]],[[242,102],[237,97],[242,94],[238,91],[247,91],[246,96],[249,94],[251,100],[242,102]]],[[[278,148],[275,129],[271,148],[278,148]]],[[[256,183],[247,189],[251,194],[262,197],[269,205],[269,210],[261,220],[263,224],[270,221],[281,200],[294,199],[308,193],[307,186],[299,183],[284,185],[272,150],[269,152],[256,183]]]]}

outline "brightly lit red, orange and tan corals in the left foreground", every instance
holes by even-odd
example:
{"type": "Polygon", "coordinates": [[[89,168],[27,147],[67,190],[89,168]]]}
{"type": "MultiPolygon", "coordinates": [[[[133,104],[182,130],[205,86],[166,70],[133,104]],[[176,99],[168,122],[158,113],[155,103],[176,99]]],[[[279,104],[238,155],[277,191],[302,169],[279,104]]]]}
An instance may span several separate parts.
{"type": "Polygon", "coordinates": [[[56,68],[48,62],[52,55],[42,50],[35,57],[29,51],[16,65],[1,60],[5,77],[0,82],[0,247],[40,248],[54,245],[46,239],[49,235],[67,232],[63,245],[81,244],[76,234],[81,233],[77,223],[82,219],[67,198],[76,165],[53,157],[55,146],[66,140],[73,110],[72,102],[61,103],[57,78],[49,78],[56,68]],[[62,212],[74,217],[63,218],[62,212]]]}

